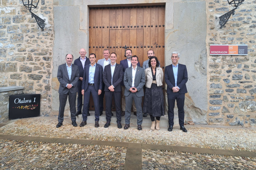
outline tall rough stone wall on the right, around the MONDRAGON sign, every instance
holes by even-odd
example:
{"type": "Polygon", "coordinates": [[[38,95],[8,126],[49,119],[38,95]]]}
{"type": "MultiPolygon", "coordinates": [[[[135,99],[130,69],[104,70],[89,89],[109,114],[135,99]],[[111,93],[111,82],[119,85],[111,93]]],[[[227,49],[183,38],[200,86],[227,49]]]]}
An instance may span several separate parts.
{"type": "Polygon", "coordinates": [[[233,9],[226,0],[206,0],[208,124],[256,126],[256,1],[246,0],[219,28],[219,16],[233,9]],[[209,55],[210,44],[247,44],[248,55],[209,55]]]}

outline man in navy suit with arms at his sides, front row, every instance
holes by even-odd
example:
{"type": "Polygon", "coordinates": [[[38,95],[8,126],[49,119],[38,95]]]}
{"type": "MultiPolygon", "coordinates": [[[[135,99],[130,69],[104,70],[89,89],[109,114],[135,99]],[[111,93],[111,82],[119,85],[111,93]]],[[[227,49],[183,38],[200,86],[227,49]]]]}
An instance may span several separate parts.
{"type": "Polygon", "coordinates": [[[93,96],[95,108],[95,127],[99,127],[99,95],[102,90],[102,66],[96,64],[96,54],[89,55],[90,64],[84,67],[84,77],[82,82],[82,95],[84,95],[83,121],[80,126],[87,124],[87,112],[89,110],[90,95],[93,96]]]}

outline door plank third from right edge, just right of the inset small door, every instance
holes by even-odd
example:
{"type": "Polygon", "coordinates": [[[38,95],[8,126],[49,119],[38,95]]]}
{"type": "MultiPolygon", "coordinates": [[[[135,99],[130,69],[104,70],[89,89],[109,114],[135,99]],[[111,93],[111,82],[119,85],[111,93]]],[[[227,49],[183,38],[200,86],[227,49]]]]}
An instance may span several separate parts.
{"type": "Polygon", "coordinates": [[[146,6],[144,7],[144,16],[143,16],[143,22],[144,22],[144,34],[143,34],[143,61],[146,61],[148,59],[147,57],[147,51],[150,50],[150,17],[151,17],[151,7],[146,6]]]}

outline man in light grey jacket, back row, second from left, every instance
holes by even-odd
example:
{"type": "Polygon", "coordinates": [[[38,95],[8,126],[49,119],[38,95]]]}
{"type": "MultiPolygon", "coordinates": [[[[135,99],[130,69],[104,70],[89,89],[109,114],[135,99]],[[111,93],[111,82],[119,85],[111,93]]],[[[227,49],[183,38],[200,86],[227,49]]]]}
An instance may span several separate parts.
{"type": "MultiPolygon", "coordinates": [[[[101,65],[103,67],[103,72],[104,72],[105,66],[109,65],[110,61],[111,61],[110,58],[109,58],[109,56],[110,56],[109,49],[104,49],[103,50],[103,56],[104,56],[104,58],[98,60],[97,64],[99,64],[99,65],[101,65]]],[[[99,96],[99,99],[100,99],[100,116],[103,114],[103,99],[104,99],[104,95],[105,95],[105,91],[104,91],[105,83],[104,82],[102,83],[102,89],[103,90],[102,90],[102,92],[101,92],[101,94],[99,96]]],[[[112,112],[111,112],[111,115],[113,116],[112,112]]]]}

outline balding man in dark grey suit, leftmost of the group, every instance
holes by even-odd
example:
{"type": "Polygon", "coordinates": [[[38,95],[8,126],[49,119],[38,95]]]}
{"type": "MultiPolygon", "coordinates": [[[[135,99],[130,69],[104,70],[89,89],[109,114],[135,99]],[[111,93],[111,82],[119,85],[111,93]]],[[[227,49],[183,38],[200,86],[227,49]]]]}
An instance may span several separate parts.
{"type": "Polygon", "coordinates": [[[62,125],[64,110],[67,99],[69,98],[69,107],[72,125],[77,126],[75,118],[75,99],[76,99],[76,86],[79,79],[79,69],[76,65],[72,65],[73,55],[66,55],[66,63],[58,67],[57,78],[59,80],[59,115],[58,124],[56,128],[62,125]]]}

